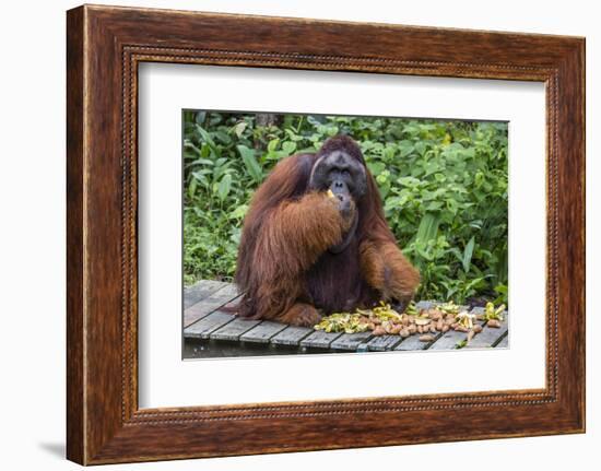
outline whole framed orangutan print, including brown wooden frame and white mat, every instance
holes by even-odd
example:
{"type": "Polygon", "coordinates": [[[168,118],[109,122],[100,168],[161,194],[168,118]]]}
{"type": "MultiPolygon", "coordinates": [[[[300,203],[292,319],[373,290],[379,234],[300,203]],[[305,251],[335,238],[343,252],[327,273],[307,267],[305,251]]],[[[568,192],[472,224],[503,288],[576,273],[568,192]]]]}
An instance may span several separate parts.
{"type": "Polygon", "coordinates": [[[69,459],[585,431],[582,38],[67,33],[69,459]]]}

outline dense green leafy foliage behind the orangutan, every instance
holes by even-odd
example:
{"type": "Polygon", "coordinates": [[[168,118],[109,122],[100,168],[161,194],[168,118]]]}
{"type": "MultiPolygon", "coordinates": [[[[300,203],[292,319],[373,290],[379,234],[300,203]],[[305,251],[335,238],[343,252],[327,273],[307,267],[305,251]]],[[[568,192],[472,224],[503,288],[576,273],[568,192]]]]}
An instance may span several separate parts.
{"type": "Polygon", "coordinates": [[[187,284],[232,280],[250,197],[279,160],[347,133],[376,177],[399,245],[422,273],[417,296],[507,302],[506,123],[260,117],[184,113],[187,284]]]}

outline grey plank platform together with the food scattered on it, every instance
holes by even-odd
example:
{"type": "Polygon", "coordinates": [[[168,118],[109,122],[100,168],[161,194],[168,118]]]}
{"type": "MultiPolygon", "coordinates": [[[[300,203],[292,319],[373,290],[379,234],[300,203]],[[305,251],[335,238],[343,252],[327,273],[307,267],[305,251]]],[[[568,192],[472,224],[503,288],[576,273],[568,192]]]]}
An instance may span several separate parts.
{"type": "Polygon", "coordinates": [[[390,352],[508,346],[505,305],[460,306],[452,302],[390,304],[326,316],[313,329],[240,319],[229,283],[202,281],[184,295],[184,357],[282,355],[326,352],[390,352]]]}

